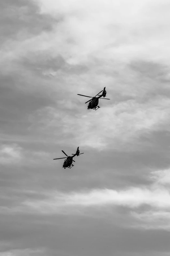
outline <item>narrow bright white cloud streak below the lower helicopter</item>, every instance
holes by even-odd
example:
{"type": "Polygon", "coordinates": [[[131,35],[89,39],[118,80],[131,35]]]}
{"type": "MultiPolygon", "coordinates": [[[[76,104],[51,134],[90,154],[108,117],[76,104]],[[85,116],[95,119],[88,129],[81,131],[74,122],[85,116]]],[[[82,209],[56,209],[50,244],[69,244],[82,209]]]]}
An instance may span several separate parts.
{"type": "Polygon", "coordinates": [[[126,206],[138,208],[142,205],[170,209],[169,192],[163,188],[128,188],[126,190],[96,189],[84,192],[49,192],[44,200],[25,201],[23,206],[44,214],[66,211],[83,211],[85,207],[126,206]],[[78,210],[79,209],[79,210],[78,210]]]}

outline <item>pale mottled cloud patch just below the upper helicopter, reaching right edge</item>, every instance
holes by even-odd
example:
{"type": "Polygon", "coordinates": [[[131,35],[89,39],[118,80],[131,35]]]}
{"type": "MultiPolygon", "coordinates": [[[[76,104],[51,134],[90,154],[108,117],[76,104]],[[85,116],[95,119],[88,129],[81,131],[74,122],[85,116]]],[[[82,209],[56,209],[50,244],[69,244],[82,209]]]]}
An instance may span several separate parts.
{"type": "Polygon", "coordinates": [[[82,146],[99,148],[100,145],[109,145],[119,148],[122,144],[140,136],[141,133],[159,130],[163,124],[166,124],[167,117],[170,115],[168,105],[169,100],[152,102],[152,104],[150,102],[139,104],[131,100],[101,108],[100,112],[90,113],[81,118],[79,122],[81,136],[78,136],[78,140],[82,146]],[[99,145],[98,141],[100,141],[99,145]]]}

